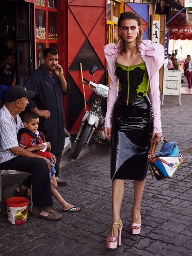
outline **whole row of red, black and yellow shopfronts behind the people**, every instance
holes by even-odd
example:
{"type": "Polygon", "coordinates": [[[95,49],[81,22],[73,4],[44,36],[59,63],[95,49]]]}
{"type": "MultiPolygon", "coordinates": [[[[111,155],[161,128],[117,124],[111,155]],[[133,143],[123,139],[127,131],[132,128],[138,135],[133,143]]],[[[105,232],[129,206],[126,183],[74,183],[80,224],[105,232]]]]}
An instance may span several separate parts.
{"type": "MultiPolygon", "coordinates": [[[[0,54],[10,32],[16,37],[17,84],[24,85],[29,73],[42,63],[43,50],[59,51],[59,64],[70,82],[71,93],[64,97],[66,123],[70,133],[77,133],[85,112],[79,64],[83,76],[91,79],[89,68],[95,64],[96,82],[106,83],[103,45],[116,43],[117,20],[123,11],[133,11],[142,18],[144,39],[149,38],[149,4],[122,0],[1,0],[0,54]]],[[[85,87],[86,106],[95,99],[85,87]]],[[[106,104],[103,102],[103,111],[106,104]]]]}

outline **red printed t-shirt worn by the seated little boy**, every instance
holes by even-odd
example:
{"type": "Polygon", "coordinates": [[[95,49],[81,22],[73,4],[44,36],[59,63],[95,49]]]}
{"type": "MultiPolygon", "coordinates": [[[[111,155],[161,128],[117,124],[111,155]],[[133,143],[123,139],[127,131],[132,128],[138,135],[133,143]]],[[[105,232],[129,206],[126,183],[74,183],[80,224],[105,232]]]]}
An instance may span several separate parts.
{"type": "MultiPolygon", "coordinates": [[[[41,133],[41,132],[39,132],[39,133],[41,133]]],[[[41,134],[43,134],[43,133],[41,133],[41,134]]],[[[43,134],[43,136],[44,136],[44,134],[43,134]]],[[[39,135],[37,135],[37,137],[38,137],[38,140],[39,140],[39,144],[42,144],[45,141],[45,136],[44,136],[44,141],[42,141],[42,139],[39,135]]],[[[20,136],[19,145],[22,146],[22,147],[25,147],[25,148],[34,147],[34,146],[37,145],[37,139],[32,137],[29,134],[23,133],[20,136]]],[[[34,153],[38,154],[38,155],[41,155],[43,157],[46,157],[46,158],[51,158],[51,153],[48,152],[47,150],[45,150],[45,152],[42,152],[42,151],[38,150],[34,153]]]]}

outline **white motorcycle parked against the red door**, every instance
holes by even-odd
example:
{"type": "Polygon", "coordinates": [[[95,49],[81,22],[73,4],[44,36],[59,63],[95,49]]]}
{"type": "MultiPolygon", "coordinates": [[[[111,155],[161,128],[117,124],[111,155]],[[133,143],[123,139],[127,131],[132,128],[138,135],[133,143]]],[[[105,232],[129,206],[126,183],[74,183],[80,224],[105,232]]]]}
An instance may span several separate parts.
{"type": "Polygon", "coordinates": [[[98,131],[96,135],[97,137],[103,140],[105,139],[105,134],[103,131],[104,116],[101,109],[101,102],[104,98],[108,96],[109,87],[101,83],[98,83],[98,84],[95,83],[96,79],[94,77],[94,73],[96,70],[97,70],[96,65],[90,68],[90,75],[93,76],[94,82],[89,81],[86,78],[83,78],[83,81],[86,82],[84,84],[89,85],[89,88],[95,91],[97,97],[95,102],[91,104],[90,110],[87,111],[82,117],[81,127],[79,128],[77,137],[75,139],[75,143],[77,144],[72,155],[73,159],[77,159],[82,148],[88,146],[88,143],[90,141],[90,138],[93,132],[99,125],[101,126],[101,130],[98,131]]]}

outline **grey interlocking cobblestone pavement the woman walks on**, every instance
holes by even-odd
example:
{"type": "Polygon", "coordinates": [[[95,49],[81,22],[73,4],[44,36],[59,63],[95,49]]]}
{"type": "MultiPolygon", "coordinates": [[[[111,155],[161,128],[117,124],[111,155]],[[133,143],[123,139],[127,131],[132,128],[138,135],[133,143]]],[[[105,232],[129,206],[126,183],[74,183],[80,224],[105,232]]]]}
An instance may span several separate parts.
{"type": "MultiPolygon", "coordinates": [[[[162,107],[166,138],[176,140],[183,155],[192,156],[192,96],[165,96],[162,107]]],[[[111,219],[109,145],[66,166],[59,187],[63,197],[82,207],[82,212],[62,213],[59,222],[28,218],[14,226],[0,218],[0,256],[192,256],[192,159],[185,160],[173,179],[157,181],[147,176],[140,235],[131,235],[133,182],[126,181],[122,203],[122,246],[105,249],[111,219]]],[[[54,204],[59,212],[61,207],[54,204]]]]}

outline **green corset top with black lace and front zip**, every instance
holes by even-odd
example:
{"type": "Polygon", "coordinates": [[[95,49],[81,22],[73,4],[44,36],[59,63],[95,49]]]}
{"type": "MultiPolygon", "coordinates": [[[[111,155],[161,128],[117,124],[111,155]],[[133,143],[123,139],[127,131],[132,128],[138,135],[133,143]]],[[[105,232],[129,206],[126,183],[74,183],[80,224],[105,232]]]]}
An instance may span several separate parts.
{"type": "Polygon", "coordinates": [[[128,102],[133,102],[147,94],[149,77],[144,61],[132,66],[118,63],[115,65],[115,73],[119,79],[119,101],[128,105],[128,102]]]}

